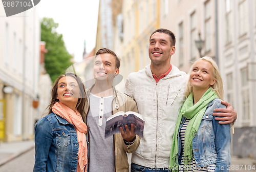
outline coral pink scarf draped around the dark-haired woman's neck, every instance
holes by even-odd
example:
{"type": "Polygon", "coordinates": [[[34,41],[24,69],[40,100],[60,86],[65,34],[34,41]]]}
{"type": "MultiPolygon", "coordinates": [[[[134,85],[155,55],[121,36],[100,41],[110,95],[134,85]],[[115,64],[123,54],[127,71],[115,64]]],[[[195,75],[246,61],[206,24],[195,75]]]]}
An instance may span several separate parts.
{"type": "Polygon", "coordinates": [[[69,123],[75,126],[77,141],[78,141],[78,162],[77,172],[83,171],[83,168],[87,171],[87,141],[86,133],[87,126],[83,122],[82,117],[78,111],[74,112],[68,106],[61,102],[56,102],[52,106],[52,112],[66,119],[69,123]]]}

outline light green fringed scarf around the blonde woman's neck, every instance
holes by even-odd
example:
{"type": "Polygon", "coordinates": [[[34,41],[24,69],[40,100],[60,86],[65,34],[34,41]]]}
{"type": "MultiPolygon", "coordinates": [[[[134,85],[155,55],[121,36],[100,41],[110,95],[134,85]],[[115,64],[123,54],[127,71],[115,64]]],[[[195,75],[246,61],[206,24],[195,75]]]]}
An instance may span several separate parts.
{"type": "Polygon", "coordinates": [[[176,123],[172,148],[170,150],[170,167],[176,167],[176,169],[173,171],[179,171],[177,136],[178,136],[179,126],[180,126],[182,116],[186,117],[187,119],[190,119],[186,127],[185,143],[183,147],[184,148],[184,164],[185,166],[187,166],[188,164],[190,164],[191,160],[193,159],[192,140],[198,131],[198,128],[202,121],[202,117],[204,115],[206,107],[209,102],[211,102],[216,98],[218,98],[216,92],[212,88],[209,88],[195,105],[193,105],[193,102],[194,102],[193,92],[187,97],[186,101],[183,103],[178,116],[178,121],[176,123]]]}

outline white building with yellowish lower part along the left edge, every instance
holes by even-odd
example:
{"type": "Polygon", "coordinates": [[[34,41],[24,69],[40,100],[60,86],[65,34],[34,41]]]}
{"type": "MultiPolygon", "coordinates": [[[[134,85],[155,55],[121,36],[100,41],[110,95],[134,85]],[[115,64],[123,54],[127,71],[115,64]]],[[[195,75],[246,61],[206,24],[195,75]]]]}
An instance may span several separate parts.
{"type": "Polygon", "coordinates": [[[0,6],[0,16],[0,140],[32,139],[39,77],[37,9],[6,17],[0,6]]]}

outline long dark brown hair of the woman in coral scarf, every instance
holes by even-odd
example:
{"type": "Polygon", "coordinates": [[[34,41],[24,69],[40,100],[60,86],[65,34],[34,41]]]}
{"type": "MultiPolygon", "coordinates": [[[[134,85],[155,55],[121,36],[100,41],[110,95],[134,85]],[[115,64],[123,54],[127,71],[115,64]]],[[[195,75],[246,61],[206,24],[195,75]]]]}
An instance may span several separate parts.
{"type": "Polygon", "coordinates": [[[84,84],[81,80],[80,77],[78,77],[75,73],[73,72],[68,72],[66,74],[60,75],[55,82],[53,83],[53,88],[52,88],[52,99],[50,101],[50,104],[48,105],[49,108],[49,114],[52,113],[52,106],[54,105],[55,102],[59,101],[57,99],[57,90],[58,90],[58,82],[61,78],[65,76],[71,76],[76,79],[78,83],[78,87],[80,90],[80,98],[78,98],[78,102],[76,104],[76,109],[77,111],[81,114],[81,116],[84,115],[84,105],[86,104],[87,98],[86,98],[86,89],[84,88],[84,84]]]}

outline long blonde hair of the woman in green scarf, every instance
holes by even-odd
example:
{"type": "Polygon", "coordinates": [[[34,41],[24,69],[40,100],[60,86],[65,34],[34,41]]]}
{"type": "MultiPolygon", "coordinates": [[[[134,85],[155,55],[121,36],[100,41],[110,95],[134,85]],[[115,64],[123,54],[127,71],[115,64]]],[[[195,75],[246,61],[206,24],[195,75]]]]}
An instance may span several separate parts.
{"type": "MultiPolygon", "coordinates": [[[[200,60],[204,60],[204,61],[208,61],[209,63],[211,63],[212,67],[214,67],[214,79],[216,80],[216,82],[213,85],[210,85],[210,87],[212,89],[214,89],[214,91],[216,92],[217,96],[223,100],[223,82],[222,82],[222,78],[220,75],[220,71],[218,68],[217,63],[210,57],[204,56],[202,58],[199,58],[197,61],[195,61],[193,63],[193,65],[191,66],[190,70],[189,70],[189,74],[191,73],[191,71],[193,70],[193,68],[195,67],[195,64],[200,61],[200,60]]],[[[185,92],[185,96],[188,97],[189,94],[193,92],[193,87],[190,84],[189,80],[187,81],[186,84],[186,92],[185,92]]]]}

